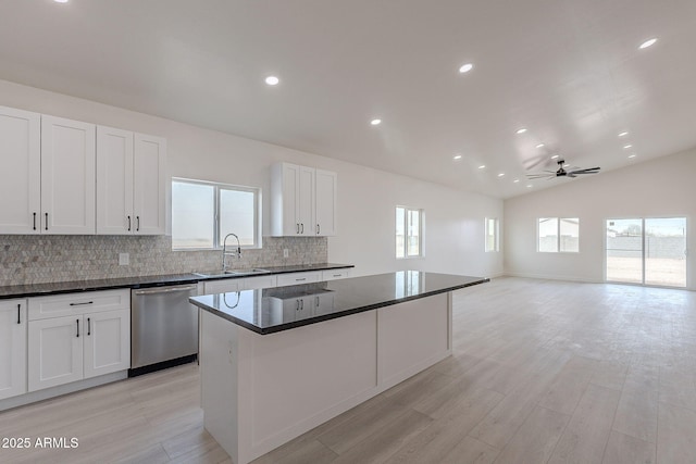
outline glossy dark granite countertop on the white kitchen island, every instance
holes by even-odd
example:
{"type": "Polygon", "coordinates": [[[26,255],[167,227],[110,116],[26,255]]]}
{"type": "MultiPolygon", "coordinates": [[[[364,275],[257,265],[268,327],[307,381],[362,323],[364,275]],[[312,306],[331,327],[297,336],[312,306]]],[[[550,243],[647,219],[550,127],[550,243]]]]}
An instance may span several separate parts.
{"type": "Polygon", "coordinates": [[[484,277],[400,271],[189,300],[212,314],[266,335],[486,281],[484,277]]]}

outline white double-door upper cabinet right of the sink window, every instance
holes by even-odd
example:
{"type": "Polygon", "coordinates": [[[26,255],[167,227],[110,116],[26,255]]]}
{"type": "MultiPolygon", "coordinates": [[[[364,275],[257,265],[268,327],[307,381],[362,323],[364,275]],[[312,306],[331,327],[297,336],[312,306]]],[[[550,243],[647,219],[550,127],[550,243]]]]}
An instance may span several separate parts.
{"type": "Polygon", "coordinates": [[[289,163],[273,165],[271,235],[335,235],[336,184],[336,173],[289,163]]]}

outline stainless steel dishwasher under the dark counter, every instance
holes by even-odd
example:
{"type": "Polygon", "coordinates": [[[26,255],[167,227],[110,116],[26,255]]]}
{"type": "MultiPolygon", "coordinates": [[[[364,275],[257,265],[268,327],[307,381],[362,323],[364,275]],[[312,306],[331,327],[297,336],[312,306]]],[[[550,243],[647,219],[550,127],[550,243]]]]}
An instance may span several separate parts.
{"type": "Polygon", "coordinates": [[[197,284],[130,291],[129,376],[196,360],[198,309],[188,297],[197,294],[197,284]]]}

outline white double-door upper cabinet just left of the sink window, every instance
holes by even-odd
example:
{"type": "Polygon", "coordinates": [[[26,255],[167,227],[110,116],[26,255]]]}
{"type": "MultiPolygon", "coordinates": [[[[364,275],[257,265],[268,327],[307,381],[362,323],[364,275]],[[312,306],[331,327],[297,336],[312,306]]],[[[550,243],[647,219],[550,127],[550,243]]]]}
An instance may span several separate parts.
{"type": "Polygon", "coordinates": [[[166,141],[97,127],[97,234],[165,233],[166,141]]]}

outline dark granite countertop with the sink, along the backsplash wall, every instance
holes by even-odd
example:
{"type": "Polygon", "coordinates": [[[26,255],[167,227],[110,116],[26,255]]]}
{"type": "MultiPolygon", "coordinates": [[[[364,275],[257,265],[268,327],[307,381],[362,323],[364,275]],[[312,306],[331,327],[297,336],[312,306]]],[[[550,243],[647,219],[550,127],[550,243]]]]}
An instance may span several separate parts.
{"type": "MultiPolygon", "coordinates": [[[[301,271],[324,271],[344,267],[353,267],[352,264],[320,263],[299,266],[263,266],[270,271],[268,274],[283,274],[301,271]]],[[[53,284],[27,284],[0,286],[0,300],[10,298],[28,298],[47,294],[71,293],[75,291],[111,290],[116,288],[147,288],[161,287],[165,285],[194,284],[201,280],[220,278],[244,278],[250,277],[245,274],[225,274],[215,276],[201,276],[199,274],[170,274],[159,276],[121,277],[112,279],[73,280],[53,284]]]]}

